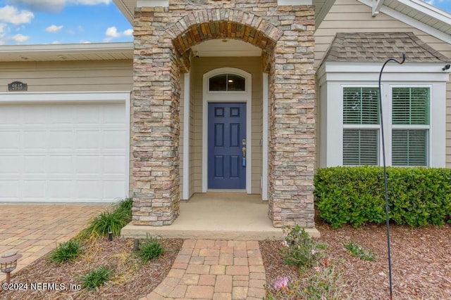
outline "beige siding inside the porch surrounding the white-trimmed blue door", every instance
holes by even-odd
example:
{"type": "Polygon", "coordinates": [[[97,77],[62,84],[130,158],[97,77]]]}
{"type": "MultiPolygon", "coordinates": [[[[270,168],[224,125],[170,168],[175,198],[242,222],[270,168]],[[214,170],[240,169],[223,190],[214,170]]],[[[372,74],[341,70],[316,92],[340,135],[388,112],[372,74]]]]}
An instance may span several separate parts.
{"type": "MultiPolygon", "coordinates": [[[[252,74],[252,193],[260,193],[262,135],[261,58],[196,58],[192,64],[192,180],[194,193],[202,192],[202,86],[206,72],[218,67],[236,67],[252,74]]],[[[249,138],[249,137],[248,137],[249,138]]]]}

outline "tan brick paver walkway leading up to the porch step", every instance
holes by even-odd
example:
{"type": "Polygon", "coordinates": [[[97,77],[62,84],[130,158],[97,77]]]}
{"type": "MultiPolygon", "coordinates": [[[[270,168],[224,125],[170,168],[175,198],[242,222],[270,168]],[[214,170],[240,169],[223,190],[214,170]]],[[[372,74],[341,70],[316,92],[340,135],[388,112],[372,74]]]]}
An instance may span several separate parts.
{"type": "Polygon", "coordinates": [[[185,240],[168,276],[140,300],[262,299],[259,242],[185,240]]]}

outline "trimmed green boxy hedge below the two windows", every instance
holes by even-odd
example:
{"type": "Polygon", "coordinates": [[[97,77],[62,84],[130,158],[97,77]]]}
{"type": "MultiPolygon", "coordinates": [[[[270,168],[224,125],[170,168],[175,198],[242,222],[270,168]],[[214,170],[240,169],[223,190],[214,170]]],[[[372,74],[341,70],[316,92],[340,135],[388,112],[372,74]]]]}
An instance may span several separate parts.
{"type": "MultiPolygon", "coordinates": [[[[451,217],[451,169],[388,167],[390,220],[442,226],[451,217]]],[[[319,216],[333,228],[385,223],[382,167],[318,169],[314,177],[319,216]]]]}

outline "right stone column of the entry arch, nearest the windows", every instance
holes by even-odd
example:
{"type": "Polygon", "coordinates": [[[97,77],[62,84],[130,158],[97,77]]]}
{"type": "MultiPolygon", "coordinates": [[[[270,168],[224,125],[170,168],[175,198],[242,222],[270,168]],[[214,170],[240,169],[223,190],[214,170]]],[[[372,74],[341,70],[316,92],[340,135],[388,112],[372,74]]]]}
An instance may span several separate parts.
{"type": "Polygon", "coordinates": [[[284,27],[271,58],[269,211],[273,226],[314,227],[314,7],[278,6],[284,27]]]}

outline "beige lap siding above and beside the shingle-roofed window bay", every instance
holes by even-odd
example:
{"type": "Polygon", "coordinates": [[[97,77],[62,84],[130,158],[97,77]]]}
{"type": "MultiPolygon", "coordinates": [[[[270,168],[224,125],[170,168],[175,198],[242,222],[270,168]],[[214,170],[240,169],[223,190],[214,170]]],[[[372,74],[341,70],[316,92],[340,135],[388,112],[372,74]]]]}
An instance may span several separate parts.
{"type": "MultiPolygon", "coordinates": [[[[372,17],[371,7],[357,0],[336,0],[315,32],[315,67],[321,64],[337,32],[413,32],[429,46],[451,58],[450,44],[384,13],[372,17]]],[[[446,112],[446,167],[451,168],[451,83],[447,84],[446,112]]]]}

